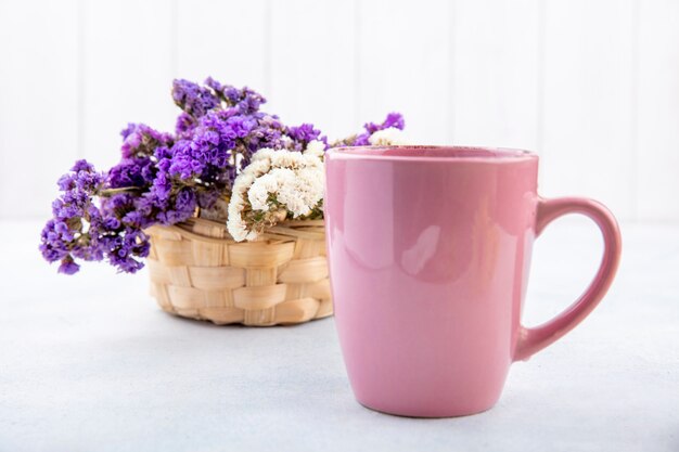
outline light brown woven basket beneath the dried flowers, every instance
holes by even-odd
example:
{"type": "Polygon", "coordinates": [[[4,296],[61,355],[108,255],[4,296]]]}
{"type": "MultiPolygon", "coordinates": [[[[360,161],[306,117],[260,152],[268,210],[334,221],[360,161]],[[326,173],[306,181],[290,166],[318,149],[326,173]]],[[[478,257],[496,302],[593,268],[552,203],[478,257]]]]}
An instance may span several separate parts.
{"type": "Polygon", "coordinates": [[[254,326],[333,312],[323,220],[279,223],[257,242],[234,242],[202,218],[146,233],[151,295],[167,312],[254,326]]]}

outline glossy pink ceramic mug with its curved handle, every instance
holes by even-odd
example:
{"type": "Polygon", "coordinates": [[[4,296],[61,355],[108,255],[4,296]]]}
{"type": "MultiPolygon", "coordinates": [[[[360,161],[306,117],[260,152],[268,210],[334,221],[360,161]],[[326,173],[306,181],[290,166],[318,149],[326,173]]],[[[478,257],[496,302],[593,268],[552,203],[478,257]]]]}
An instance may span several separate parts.
{"type": "Polygon", "coordinates": [[[615,275],[615,218],[594,201],[539,197],[535,154],[343,147],[326,154],[325,173],[335,322],[354,393],[368,408],[418,417],[488,410],[510,364],[575,327],[615,275]],[[564,312],[524,327],[533,242],[571,212],[601,229],[601,267],[564,312]]]}

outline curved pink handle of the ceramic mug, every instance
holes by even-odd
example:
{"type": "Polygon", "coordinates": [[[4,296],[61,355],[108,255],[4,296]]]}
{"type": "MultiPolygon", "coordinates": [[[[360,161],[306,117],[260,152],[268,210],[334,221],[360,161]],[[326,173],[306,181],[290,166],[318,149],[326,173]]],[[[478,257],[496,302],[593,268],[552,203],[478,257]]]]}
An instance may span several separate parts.
{"type": "Polygon", "coordinates": [[[527,360],[580,323],[599,305],[617,271],[622,249],[620,230],[613,214],[595,201],[579,197],[539,198],[536,236],[542,233],[545,227],[566,214],[585,215],[601,230],[604,249],[599,271],[587,290],[554,319],[533,328],[520,326],[514,361],[527,360]]]}

